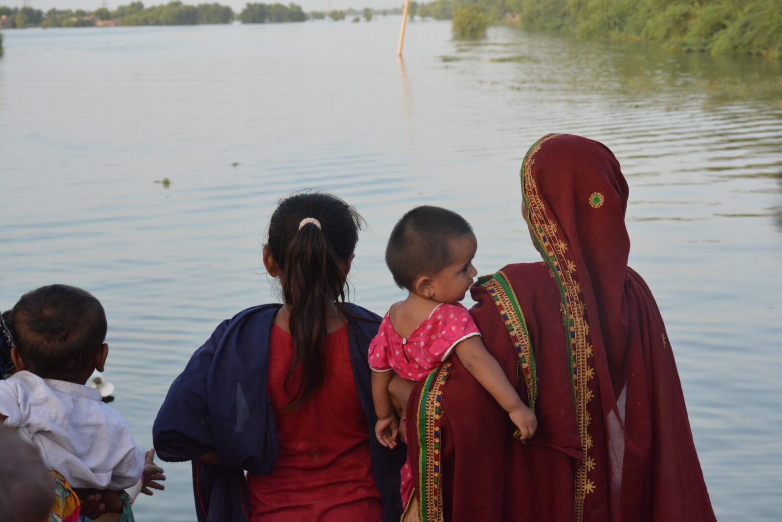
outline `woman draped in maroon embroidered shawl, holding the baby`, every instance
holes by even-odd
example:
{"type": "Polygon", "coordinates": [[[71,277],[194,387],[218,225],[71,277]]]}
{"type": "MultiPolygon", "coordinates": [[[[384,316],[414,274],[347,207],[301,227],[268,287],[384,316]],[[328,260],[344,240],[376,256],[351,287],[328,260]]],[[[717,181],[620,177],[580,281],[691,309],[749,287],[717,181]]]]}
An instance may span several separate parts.
{"type": "Polygon", "coordinates": [[[522,192],[543,262],[480,278],[472,314],[538,430],[512,438],[454,356],[407,402],[418,517],[715,520],[665,325],[627,266],[619,163],[597,141],[549,134],[524,159],[522,192]]]}

